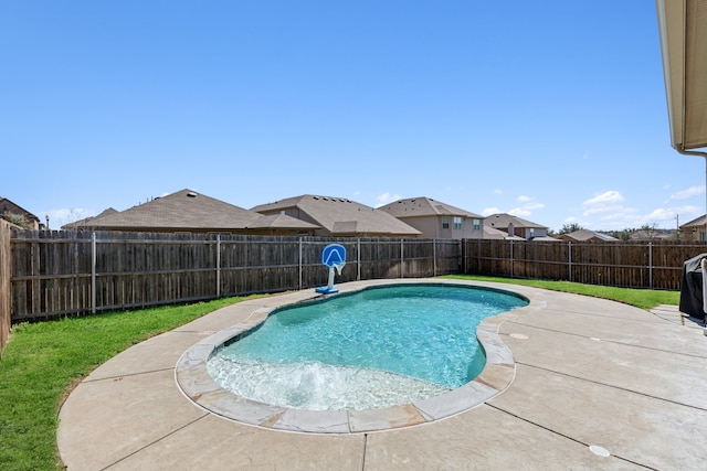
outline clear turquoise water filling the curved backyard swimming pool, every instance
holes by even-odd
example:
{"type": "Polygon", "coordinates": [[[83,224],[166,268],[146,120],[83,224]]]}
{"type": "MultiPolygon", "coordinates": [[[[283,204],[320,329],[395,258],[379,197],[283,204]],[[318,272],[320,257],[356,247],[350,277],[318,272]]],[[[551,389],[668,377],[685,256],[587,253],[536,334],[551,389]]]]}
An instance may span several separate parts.
{"type": "Polygon", "coordinates": [[[208,370],[225,389],[309,410],[358,410],[460,387],[486,358],[476,328],[526,306],[513,293],[397,285],[275,311],[222,346],[208,370]]]}

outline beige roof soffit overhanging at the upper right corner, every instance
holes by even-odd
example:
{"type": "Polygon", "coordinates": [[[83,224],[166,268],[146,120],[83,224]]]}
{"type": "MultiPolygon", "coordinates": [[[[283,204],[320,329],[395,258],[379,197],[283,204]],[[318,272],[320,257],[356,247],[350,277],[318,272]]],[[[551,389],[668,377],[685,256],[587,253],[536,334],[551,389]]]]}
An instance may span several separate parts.
{"type": "Polygon", "coordinates": [[[707,0],[656,0],[671,140],[707,147],[707,0]]]}

